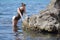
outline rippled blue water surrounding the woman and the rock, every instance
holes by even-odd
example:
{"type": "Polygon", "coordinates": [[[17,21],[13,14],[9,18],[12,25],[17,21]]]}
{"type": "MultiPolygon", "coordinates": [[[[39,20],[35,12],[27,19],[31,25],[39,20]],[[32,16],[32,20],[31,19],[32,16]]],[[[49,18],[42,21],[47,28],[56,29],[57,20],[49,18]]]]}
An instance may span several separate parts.
{"type": "Polygon", "coordinates": [[[27,15],[37,14],[46,8],[50,0],[0,0],[0,40],[58,40],[57,37],[31,36],[23,32],[22,22],[19,20],[19,36],[14,36],[12,31],[12,17],[17,14],[21,3],[26,4],[27,15]]]}

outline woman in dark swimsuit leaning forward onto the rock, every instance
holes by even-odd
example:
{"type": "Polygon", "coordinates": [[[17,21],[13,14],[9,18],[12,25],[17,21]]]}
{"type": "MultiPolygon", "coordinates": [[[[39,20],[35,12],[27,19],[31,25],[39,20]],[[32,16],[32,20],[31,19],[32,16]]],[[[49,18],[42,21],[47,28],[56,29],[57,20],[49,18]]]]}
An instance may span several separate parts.
{"type": "Polygon", "coordinates": [[[17,32],[17,23],[18,23],[18,20],[23,16],[23,13],[25,13],[25,7],[26,5],[24,3],[22,3],[21,7],[17,9],[17,16],[14,16],[13,17],[13,31],[14,32],[17,32]]]}

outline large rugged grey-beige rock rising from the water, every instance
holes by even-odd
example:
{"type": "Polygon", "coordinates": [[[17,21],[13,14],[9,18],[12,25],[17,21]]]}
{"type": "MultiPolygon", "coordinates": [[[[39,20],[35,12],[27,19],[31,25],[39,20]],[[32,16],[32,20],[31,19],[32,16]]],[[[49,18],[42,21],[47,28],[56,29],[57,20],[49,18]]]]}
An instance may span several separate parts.
{"type": "Polygon", "coordinates": [[[25,18],[23,28],[39,32],[60,32],[60,0],[51,0],[46,10],[25,18]]]}

